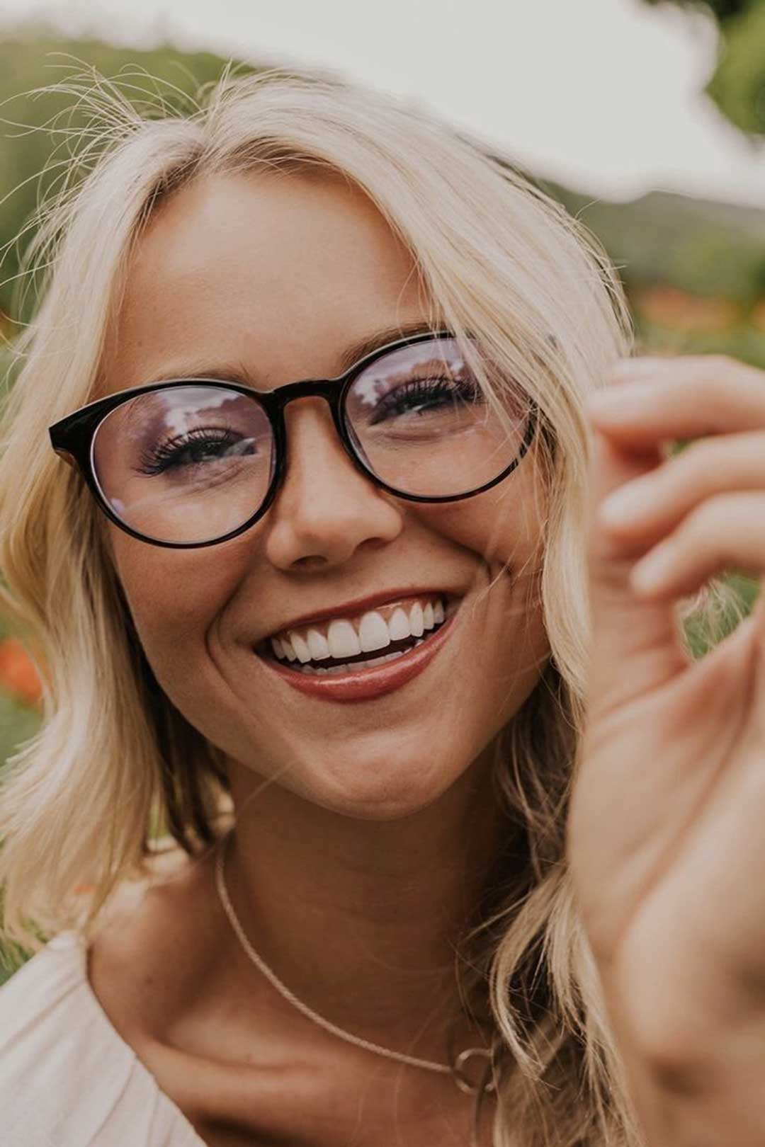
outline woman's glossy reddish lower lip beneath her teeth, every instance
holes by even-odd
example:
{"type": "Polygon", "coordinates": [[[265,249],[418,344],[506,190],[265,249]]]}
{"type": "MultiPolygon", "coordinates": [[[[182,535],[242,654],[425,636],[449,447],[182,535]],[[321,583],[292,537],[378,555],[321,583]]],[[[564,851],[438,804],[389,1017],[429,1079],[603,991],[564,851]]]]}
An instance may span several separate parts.
{"type": "Polygon", "coordinates": [[[271,657],[260,657],[260,661],[298,693],[321,697],[323,701],[370,701],[400,689],[407,681],[417,677],[451,637],[455,617],[456,614],[452,614],[437,633],[412,653],[404,654],[396,661],[385,662],[378,669],[362,669],[356,673],[333,673],[331,677],[307,677],[296,670],[287,669],[271,657]]]}

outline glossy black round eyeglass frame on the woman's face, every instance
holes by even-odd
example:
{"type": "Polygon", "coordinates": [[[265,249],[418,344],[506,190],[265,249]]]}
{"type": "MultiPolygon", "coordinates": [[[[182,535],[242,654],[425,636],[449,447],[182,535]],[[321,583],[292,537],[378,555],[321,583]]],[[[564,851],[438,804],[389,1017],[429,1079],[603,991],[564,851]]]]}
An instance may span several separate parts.
{"type": "Polygon", "coordinates": [[[88,403],[87,406],[83,406],[72,414],[68,414],[58,422],[55,422],[48,428],[50,445],[56,454],[63,458],[64,461],[69,462],[69,465],[76,466],[80,470],[96,504],[116,526],[124,530],[125,533],[131,535],[131,537],[136,538],[139,541],[146,541],[153,546],[162,546],[166,549],[201,549],[205,546],[219,545],[221,541],[229,541],[232,538],[239,537],[240,533],[244,533],[245,530],[249,530],[264,516],[264,514],[272,506],[287,474],[287,427],[284,423],[284,408],[288,403],[291,403],[296,398],[309,398],[315,396],[326,399],[329,404],[337,436],[343,444],[345,453],[356,469],[359,470],[366,478],[369,478],[378,489],[385,490],[396,498],[403,498],[406,501],[462,501],[466,498],[475,498],[476,494],[483,493],[485,490],[490,490],[492,486],[502,482],[516,468],[523,455],[528,452],[533,440],[537,427],[538,407],[532,398],[528,399],[529,426],[518,453],[515,455],[510,465],[507,466],[501,474],[498,474],[495,478],[492,478],[491,482],[484,483],[484,485],[478,486],[476,490],[469,490],[461,494],[447,494],[439,497],[424,497],[423,494],[406,493],[405,491],[397,490],[395,486],[383,482],[383,479],[378,477],[359,455],[357,447],[353,444],[352,427],[345,416],[345,397],[362,370],[375,362],[378,358],[390,354],[391,351],[442,338],[455,338],[455,335],[453,335],[450,330],[434,330],[424,331],[419,335],[409,335],[406,338],[398,338],[392,343],[385,343],[385,345],[378,346],[370,353],[365,354],[364,358],[360,358],[357,362],[350,366],[348,370],[337,375],[335,379],[306,379],[300,382],[286,383],[282,387],[276,387],[274,390],[260,391],[240,382],[227,382],[220,379],[203,377],[169,379],[163,382],[150,382],[140,387],[132,387],[128,390],[120,390],[115,395],[109,395],[106,398],[96,399],[94,403],[88,403]],[[231,530],[226,535],[223,535],[220,538],[212,538],[206,541],[161,541],[158,538],[150,538],[145,533],[140,533],[138,530],[127,525],[126,522],[123,522],[123,520],[115,514],[95,476],[95,468],[93,466],[93,440],[103,419],[124,403],[136,398],[139,395],[149,393],[150,391],[175,390],[180,387],[194,384],[203,384],[218,390],[233,390],[236,393],[244,395],[253,401],[259,403],[266,413],[274,437],[275,465],[268,489],[260,506],[255,514],[242,523],[242,525],[237,526],[235,530],[231,530]]]}

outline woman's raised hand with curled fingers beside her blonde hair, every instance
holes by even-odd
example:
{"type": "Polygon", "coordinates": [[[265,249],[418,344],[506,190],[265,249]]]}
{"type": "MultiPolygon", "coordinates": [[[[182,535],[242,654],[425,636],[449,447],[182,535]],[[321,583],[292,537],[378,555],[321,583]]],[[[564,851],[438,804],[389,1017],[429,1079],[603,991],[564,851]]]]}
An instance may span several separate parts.
{"type": "Polygon", "coordinates": [[[577,900],[632,1047],[711,1055],[757,1016],[765,1079],[763,595],[701,661],[677,616],[712,575],[765,570],[765,372],[634,359],[598,397],[593,643],[568,824],[577,900]]]}

